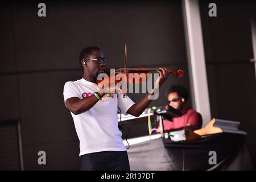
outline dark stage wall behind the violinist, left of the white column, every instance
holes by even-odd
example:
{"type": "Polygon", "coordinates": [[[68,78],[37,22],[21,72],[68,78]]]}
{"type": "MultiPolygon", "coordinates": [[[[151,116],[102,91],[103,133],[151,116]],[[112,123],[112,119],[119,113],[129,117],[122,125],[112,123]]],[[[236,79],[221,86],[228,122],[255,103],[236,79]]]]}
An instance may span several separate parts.
{"type": "MultiPolygon", "coordinates": [[[[39,18],[36,2],[1,7],[0,121],[19,121],[24,169],[79,169],[79,142],[63,86],[82,77],[81,49],[98,46],[109,68],[122,68],[127,42],[127,67],[187,72],[181,3],[46,2],[46,7],[45,18],[39,18]],[[38,164],[41,150],[47,165],[38,164]]],[[[188,86],[188,75],[171,77],[152,105],[165,105],[164,92],[174,83],[188,86]]],[[[143,94],[130,97],[138,101],[143,94]]]]}

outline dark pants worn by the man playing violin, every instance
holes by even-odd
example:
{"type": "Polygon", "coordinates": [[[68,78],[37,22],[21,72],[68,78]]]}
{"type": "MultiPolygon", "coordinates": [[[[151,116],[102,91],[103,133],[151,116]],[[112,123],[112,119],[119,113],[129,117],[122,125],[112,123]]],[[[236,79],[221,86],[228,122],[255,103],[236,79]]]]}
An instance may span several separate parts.
{"type": "Polygon", "coordinates": [[[113,170],[130,171],[126,151],[103,151],[80,156],[82,171],[113,170]]]}

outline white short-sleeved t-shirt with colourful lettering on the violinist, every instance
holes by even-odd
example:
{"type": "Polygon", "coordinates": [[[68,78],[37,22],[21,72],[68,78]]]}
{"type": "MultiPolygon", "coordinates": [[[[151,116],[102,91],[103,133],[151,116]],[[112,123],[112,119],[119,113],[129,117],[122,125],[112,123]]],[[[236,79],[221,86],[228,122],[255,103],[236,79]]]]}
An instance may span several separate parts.
{"type": "MultiPolygon", "coordinates": [[[[89,97],[99,90],[97,84],[84,78],[68,81],[64,85],[64,102],[71,97],[89,97]]],[[[118,129],[117,107],[127,115],[126,111],[134,104],[128,96],[123,98],[123,95],[111,94],[111,97],[102,97],[102,100],[84,113],[71,113],[80,140],[79,156],[100,151],[126,151],[122,133],[118,129]]]]}

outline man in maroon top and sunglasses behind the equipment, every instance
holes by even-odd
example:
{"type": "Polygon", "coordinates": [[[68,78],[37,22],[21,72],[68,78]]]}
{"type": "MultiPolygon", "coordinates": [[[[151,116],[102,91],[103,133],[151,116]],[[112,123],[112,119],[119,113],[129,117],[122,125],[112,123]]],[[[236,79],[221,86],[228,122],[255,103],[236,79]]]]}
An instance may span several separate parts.
{"type": "MultiPolygon", "coordinates": [[[[183,129],[189,126],[191,130],[201,129],[202,117],[200,113],[186,105],[188,100],[188,90],[181,85],[173,85],[167,92],[168,103],[174,109],[181,111],[181,117],[172,118],[172,121],[163,120],[164,131],[183,129]]],[[[160,126],[158,127],[160,131],[160,126]]]]}

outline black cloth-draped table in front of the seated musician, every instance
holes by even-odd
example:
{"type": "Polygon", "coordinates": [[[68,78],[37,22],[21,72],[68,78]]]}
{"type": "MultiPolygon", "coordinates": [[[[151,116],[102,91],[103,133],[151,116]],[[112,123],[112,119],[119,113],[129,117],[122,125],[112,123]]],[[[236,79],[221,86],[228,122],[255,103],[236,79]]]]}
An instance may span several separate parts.
{"type": "Polygon", "coordinates": [[[254,170],[245,137],[238,134],[222,133],[193,142],[160,137],[130,144],[127,153],[131,170],[254,170]],[[209,163],[210,151],[216,152],[216,164],[209,163]]]}

